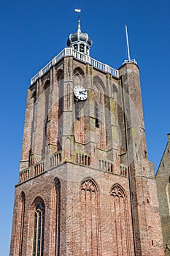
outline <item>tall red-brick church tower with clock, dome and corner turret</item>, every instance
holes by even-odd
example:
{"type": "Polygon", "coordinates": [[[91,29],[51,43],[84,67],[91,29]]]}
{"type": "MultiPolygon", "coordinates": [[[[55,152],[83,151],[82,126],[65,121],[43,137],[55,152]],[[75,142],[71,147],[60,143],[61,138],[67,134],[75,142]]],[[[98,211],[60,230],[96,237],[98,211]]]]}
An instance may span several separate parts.
{"type": "Polygon", "coordinates": [[[31,79],[10,256],[163,256],[139,67],[90,57],[78,22],[31,79]]]}

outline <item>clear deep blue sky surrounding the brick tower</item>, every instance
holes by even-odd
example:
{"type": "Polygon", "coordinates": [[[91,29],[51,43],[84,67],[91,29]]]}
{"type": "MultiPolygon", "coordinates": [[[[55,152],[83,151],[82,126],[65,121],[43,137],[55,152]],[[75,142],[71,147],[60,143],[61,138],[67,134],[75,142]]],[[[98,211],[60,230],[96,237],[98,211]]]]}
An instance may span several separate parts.
{"type": "Polygon", "coordinates": [[[93,40],[90,56],[117,69],[127,59],[125,24],[131,58],[139,64],[149,159],[155,170],[170,132],[169,0],[0,0],[1,186],[0,255],[9,255],[12,208],[23,137],[30,78],[63,48],[77,31],[93,40]]]}

